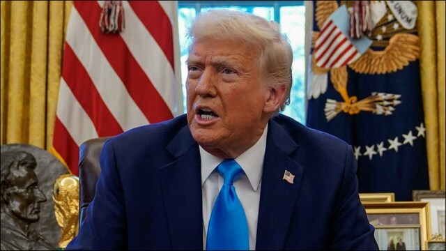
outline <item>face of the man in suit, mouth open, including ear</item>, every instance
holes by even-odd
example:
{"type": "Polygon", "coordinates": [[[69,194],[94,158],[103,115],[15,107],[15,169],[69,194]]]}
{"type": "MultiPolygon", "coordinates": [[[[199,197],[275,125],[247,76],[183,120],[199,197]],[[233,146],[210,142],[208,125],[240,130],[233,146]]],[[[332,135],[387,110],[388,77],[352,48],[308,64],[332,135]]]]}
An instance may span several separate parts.
{"type": "Polygon", "coordinates": [[[252,47],[231,40],[192,45],[187,121],[194,139],[220,158],[236,158],[254,145],[279,106],[282,89],[261,84],[258,57],[252,47]]]}

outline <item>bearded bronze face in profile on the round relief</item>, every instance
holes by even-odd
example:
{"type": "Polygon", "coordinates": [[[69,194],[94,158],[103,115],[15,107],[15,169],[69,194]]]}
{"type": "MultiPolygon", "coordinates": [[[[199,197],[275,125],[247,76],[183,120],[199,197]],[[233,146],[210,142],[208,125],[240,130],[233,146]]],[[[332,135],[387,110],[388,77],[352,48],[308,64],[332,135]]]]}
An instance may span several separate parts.
{"type": "Polygon", "coordinates": [[[38,188],[36,173],[30,167],[21,166],[14,175],[15,184],[7,191],[10,210],[21,220],[36,222],[39,219],[40,203],[47,200],[38,188]]]}

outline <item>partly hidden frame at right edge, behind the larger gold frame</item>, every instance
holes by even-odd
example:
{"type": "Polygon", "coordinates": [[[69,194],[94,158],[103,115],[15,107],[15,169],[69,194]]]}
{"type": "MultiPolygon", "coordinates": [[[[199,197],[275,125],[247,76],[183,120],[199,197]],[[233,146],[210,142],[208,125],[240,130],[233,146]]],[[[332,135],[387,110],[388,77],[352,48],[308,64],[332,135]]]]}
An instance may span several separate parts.
{"type": "Polygon", "coordinates": [[[445,190],[414,190],[412,196],[414,201],[429,201],[431,234],[441,234],[445,239],[445,190]]]}

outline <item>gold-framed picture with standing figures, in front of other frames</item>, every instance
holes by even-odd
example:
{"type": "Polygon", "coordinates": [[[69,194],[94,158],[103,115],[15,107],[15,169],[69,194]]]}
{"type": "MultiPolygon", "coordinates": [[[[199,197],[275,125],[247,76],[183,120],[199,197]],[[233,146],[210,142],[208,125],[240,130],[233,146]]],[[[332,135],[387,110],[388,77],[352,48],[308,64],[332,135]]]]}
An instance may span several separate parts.
{"type": "Polygon", "coordinates": [[[370,224],[375,227],[380,250],[427,249],[430,236],[429,202],[365,203],[364,208],[370,224]]]}

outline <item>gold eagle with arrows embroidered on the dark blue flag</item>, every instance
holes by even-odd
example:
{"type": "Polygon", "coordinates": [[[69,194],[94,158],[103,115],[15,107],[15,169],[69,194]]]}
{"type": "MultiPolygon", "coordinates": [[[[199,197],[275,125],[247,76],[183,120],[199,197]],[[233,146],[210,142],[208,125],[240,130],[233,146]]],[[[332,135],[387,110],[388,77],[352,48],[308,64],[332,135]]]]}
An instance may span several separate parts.
{"type": "MultiPolygon", "coordinates": [[[[342,1],[343,4],[351,5],[352,1],[342,1]]],[[[371,47],[384,47],[384,50],[372,50],[369,48],[359,59],[348,65],[355,73],[361,74],[386,74],[394,73],[403,69],[412,61],[416,61],[420,56],[420,45],[418,36],[412,34],[415,29],[404,29],[392,15],[392,11],[385,6],[385,12],[374,25],[374,29],[367,36],[374,42],[371,47]]],[[[337,1],[316,1],[316,24],[322,28],[325,21],[339,8],[337,1]]],[[[318,32],[312,34],[312,47],[318,32]]],[[[348,71],[347,66],[339,68],[321,68],[316,66],[314,55],[312,55],[312,74],[321,75],[330,71],[330,80],[334,89],[341,95],[343,102],[328,99],[325,104],[325,117],[328,121],[334,118],[339,112],[347,114],[358,114],[360,112],[372,112],[374,114],[390,115],[394,111],[394,106],[399,105],[401,97],[391,93],[371,93],[363,100],[357,100],[356,96],[349,96],[347,91],[348,71]]],[[[313,84],[313,83],[312,83],[313,84]]],[[[320,91],[321,88],[312,89],[320,91]]],[[[323,88],[322,88],[323,89],[323,88]]],[[[326,89],[325,89],[326,90],[326,89]]],[[[325,91],[323,91],[325,92],[325,91]]],[[[317,97],[319,93],[312,96],[317,97]]]]}

